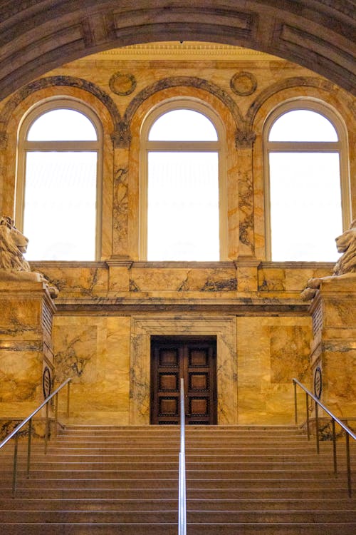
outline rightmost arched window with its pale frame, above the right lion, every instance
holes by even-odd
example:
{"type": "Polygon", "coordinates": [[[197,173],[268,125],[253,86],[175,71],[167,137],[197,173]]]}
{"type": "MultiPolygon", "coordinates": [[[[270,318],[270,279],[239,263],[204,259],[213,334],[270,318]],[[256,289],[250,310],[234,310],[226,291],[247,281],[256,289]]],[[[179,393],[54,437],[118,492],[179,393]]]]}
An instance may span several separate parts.
{"type": "Polygon", "coordinates": [[[268,258],[335,261],[347,227],[350,193],[345,129],[317,103],[290,102],[268,118],[266,220],[268,258]]]}

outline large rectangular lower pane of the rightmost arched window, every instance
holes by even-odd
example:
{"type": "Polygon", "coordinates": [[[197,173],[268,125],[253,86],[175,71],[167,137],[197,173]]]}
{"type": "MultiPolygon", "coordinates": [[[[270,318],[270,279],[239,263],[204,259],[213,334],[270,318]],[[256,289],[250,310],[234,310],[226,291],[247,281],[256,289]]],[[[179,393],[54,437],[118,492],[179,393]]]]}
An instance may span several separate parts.
{"type": "Polygon", "coordinates": [[[270,182],[272,260],[337,260],[338,153],[271,153],[270,182]]]}

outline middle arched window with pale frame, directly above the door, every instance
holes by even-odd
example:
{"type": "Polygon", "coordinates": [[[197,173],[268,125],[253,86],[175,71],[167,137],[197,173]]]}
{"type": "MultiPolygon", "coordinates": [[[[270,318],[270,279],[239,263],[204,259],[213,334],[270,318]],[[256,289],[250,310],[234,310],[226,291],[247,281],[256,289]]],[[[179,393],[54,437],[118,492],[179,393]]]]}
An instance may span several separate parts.
{"type": "Polygon", "coordinates": [[[189,101],[165,103],[145,121],[141,258],[214,261],[224,256],[222,130],[209,108],[189,101]]]}

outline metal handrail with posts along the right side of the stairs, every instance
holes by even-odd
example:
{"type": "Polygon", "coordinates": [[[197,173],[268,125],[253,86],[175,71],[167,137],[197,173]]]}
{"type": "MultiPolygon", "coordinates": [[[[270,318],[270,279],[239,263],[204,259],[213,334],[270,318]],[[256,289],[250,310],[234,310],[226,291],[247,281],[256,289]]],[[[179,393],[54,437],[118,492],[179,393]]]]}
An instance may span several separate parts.
{"type": "Polygon", "coordinates": [[[307,434],[308,440],[310,440],[310,419],[309,419],[309,397],[315,402],[315,440],[316,440],[316,451],[320,453],[320,444],[319,444],[319,415],[318,407],[323,409],[328,416],[331,418],[332,427],[333,427],[333,460],[334,460],[334,473],[337,474],[337,456],[336,456],[336,432],[335,432],[335,423],[340,425],[340,427],[345,431],[346,437],[346,465],[347,465],[347,489],[348,494],[351,498],[352,496],[352,478],[351,478],[351,462],[350,462],[350,437],[356,440],[356,434],[347,427],[339,418],[335,416],[330,410],[323,405],[322,402],[316,397],[308,388],[306,388],[298,379],[293,379],[294,384],[294,412],[295,412],[295,424],[298,424],[298,407],[297,407],[297,385],[305,392],[305,403],[306,403],[306,424],[307,424],[307,434]]]}

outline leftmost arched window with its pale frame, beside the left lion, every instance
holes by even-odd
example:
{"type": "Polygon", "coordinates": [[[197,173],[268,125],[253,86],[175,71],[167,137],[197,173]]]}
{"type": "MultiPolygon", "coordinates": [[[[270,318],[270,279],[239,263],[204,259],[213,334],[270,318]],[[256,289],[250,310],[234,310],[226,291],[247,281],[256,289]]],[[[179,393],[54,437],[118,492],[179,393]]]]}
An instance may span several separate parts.
{"type": "Polygon", "coordinates": [[[77,101],[43,103],[24,119],[16,223],[28,260],[95,260],[100,138],[95,113],[77,101]]]}

